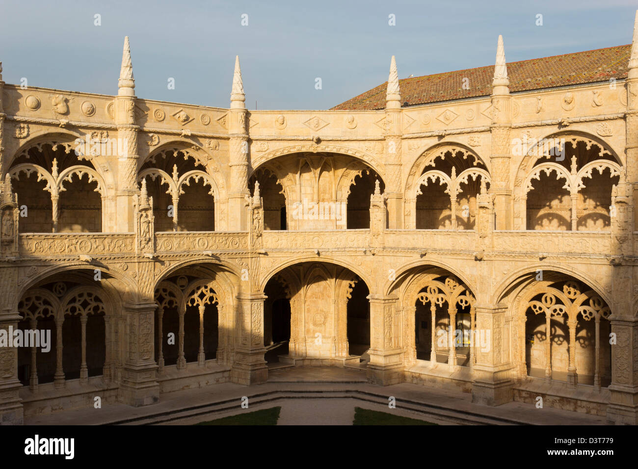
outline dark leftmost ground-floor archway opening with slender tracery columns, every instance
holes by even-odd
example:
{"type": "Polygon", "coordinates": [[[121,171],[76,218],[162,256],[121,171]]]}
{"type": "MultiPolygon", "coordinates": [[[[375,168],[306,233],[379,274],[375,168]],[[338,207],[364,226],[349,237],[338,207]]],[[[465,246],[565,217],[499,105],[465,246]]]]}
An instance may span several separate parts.
{"type": "MultiPolygon", "coordinates": [[[[19,329],[24,339],[36,339],[40,346],[19,348],[19,378],[36,391],[54,383],[64,387],[68,380],[88,383],[90,378],[110,380],[113,376],[112,293],[110,277],[101,272],[96,285],[93,271],[67,271],[29,288],[18,304],[19,329]]],[[[49,389],[47,387],[47,389],[49,389]]]]}

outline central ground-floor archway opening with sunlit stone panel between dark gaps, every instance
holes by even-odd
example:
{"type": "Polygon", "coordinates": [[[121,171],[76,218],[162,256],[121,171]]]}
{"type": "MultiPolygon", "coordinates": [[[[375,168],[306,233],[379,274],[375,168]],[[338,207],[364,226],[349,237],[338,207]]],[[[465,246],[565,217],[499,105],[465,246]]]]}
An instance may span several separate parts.
{"type": "Polygon", "coordinates": [[[369,289],[357,274],[329,262],[302,262],[277,272],[264,293],[264,345],[273,349],[267,361],[348,366],[350,360],[362,368],[359,355],[370,347],[370,306],[369,289]],[[278,343],[288,331],[285,355],[278,343]]]}

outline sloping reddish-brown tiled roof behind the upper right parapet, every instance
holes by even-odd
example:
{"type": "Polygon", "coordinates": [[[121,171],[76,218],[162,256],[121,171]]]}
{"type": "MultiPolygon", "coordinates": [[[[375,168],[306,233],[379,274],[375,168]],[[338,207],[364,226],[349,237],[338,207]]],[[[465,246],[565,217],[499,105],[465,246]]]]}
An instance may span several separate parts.
{"type": "MultiPolygon", "coordinates": [[[[609,78],[627,78],[631,44],[586,50],[562,56],[543,57],[507,64],[510,91],[584,83],[606,82],[609,78]]],[[[494,65],[467,70],[448,71],[423,77],[399,80],[402,104],[415,106],[440,101],[489,96],[492,93],[494,65]],[[469,78],[470,89],[463,89],[463,78],[469,78]]],[[[332,109],[383,109],[387,82],[332,109]]]]}

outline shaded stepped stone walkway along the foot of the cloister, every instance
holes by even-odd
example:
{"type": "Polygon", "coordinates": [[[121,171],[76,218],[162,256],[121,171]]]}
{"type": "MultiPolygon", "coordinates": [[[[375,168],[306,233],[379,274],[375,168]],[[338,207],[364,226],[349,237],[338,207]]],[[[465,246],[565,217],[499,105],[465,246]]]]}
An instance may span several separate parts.
{"type": "Polygon", "coordinates": [[[496,419],[497,424],[605,424],[605,417],[547,406],[538,409],[521,402],[478,405],[471,402],[471,394],[412,383],[374,386],[365,382],[364,371],[332,367],[274,370],[271,380],[261,385],[222,383],[170,392],[162,394],[159,403],[152,406],[103,405],[101,409],[25,417],[24,421],[26,425],[192,424],[278,405],[282,425],[349,425],[355,406],[443,424],[490,423],[489,419],[496,419]],[[249,398],[248,409],[241,408],[242,396],[249,398]],[[396,409],[388,408],[389,396],[396,398],[396,409]],[[464,422],[464,416],[470,422],[464,422]]]}

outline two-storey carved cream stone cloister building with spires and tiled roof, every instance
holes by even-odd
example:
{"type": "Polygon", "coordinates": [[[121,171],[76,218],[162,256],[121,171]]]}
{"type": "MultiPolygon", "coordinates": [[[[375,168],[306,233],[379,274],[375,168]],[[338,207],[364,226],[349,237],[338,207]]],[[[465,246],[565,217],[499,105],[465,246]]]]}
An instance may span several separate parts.
{"type": "Polygon", "coordinates": [[[248,110],[239,59],[230,108],[138,98],[128,38],[116,96],[0,75],[0,332],[52,338],[0,346],[0,421],[279,362],[637,423],[637,28],[401,82],[392,57],[324,111],[248,110]]]}

